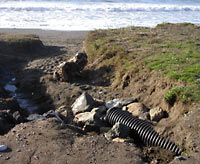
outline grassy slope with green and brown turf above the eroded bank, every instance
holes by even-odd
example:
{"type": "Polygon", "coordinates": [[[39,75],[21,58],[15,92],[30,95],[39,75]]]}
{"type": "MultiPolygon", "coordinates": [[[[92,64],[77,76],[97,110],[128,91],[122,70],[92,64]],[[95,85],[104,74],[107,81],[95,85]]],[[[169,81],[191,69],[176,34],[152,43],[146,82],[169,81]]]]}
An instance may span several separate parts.
{"type": "Polygon", "coordinates": [[[163,23],[156,28],[97,30],[88,34],[85,47],[89,63],[113,68],[115,79],[148,66],[184,83],[164,95],[167,101],[200,100],[199,26],[163,23]]]}

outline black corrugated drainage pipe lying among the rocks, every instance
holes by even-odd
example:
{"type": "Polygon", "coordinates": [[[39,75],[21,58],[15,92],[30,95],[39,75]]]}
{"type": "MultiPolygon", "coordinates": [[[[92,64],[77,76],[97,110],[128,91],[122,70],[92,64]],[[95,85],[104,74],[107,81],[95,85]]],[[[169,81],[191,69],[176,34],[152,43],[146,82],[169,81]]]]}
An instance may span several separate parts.
{"type": "Polygon", "coordinates": [[[163,149],[175,152],[177,155],[181,154],[181,150],[177,145],[161,137],[147,121],[132,116],[126,111],[119,108],[110,108],[106,113],[105,119],[111,125],[119,122],[128,126],[146,145],[159,146],[163,149]]]}

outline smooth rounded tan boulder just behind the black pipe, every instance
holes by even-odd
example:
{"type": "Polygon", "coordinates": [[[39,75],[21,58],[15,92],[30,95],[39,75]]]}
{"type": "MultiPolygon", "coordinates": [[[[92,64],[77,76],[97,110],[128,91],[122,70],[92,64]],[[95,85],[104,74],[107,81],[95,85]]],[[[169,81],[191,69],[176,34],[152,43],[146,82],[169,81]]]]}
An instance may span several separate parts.
{"type": "Polygon", "coordinates": [[[141,114],[148,112],[148,108],[142,103],[131,103],[127,107],[127,111],[133,116],[140,116],[141,114]]]}

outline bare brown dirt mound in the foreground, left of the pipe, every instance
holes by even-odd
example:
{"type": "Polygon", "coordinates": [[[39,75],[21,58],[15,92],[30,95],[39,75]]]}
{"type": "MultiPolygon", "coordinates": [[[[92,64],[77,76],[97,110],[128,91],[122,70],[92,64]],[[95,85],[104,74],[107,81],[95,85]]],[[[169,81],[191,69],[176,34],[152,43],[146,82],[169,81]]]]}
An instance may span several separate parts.
{"type": "Polygon", "coordinates": [[[0,140],[9,148],[0,156],[0,163],[5,164],[142,162],[134,144],[84,135],[77,127],[61,125],[55,119],[17,125],[0,140]]]}

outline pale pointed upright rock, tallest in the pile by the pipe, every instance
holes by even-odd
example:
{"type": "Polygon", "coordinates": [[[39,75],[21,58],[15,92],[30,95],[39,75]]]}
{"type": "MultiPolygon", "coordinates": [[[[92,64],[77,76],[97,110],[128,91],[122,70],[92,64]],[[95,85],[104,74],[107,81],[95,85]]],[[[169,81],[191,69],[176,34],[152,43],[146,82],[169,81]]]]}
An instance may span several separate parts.
{"type": "Polygon", "coordinates": [[[72,104],[72,112],[74,115],[81,112],[89,112],[95,106],[95,100],[87,92],[84,92],[76,101],[72,104]]]}

